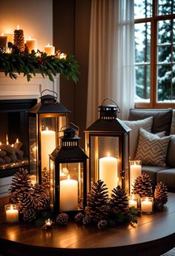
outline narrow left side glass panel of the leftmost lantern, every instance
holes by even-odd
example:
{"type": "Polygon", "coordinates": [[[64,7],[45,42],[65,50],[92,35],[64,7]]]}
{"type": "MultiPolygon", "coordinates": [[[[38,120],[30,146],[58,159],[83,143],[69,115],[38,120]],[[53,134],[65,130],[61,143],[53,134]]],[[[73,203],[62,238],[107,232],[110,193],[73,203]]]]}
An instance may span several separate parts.
{"type": "Polygon", "coordinates": [[[38,161],[37,140],[36,140],[36,116],[29,116],[29,154],[30,154],[30,175],[36,181],[36,165],[38,161]]]}

